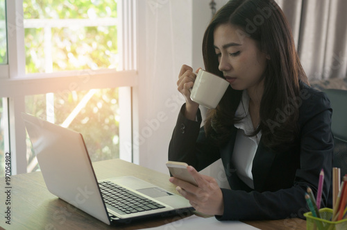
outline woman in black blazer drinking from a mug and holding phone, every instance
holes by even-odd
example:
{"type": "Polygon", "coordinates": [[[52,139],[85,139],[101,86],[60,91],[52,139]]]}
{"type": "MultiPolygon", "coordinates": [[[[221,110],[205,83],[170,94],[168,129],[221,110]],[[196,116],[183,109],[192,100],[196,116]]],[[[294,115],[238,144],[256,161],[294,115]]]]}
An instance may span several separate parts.
{"type": "MultiPolygon", "coordinates": [[[[197,211],[219,220],[303,217],[307,186],[321,207],[331,197],[332,109],[323,92],[308,86],[289,25],[272,0],[231,0],[214,16],[203,38],[205,69],[230,83],[203,128],[189,98],[193,69],[183,65],[178,90],[186,103],[169,145],[169,160],[188,163],[198,182],[171,183],[197,211]],[[198,174],[223,161],[231,190],[198,174]]],[[[218,89],[211,89],[218,90],[218,89]]]]}

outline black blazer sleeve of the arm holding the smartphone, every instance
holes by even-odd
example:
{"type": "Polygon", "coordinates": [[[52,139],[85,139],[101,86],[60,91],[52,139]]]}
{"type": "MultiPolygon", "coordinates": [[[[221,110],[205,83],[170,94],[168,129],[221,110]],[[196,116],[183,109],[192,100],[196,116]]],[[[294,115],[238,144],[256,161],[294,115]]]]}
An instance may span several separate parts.
{"type": "Polygon", "coordinates": [[[330,129],[332,108],[323,92],[312,92],[299,110],[301,162],[296,170],[293,186],[273,192],[221,189],[224,213],[216,216],[218,220],[304,218],[303,213],[308,211],[305,191],[310,186],[316,195],[321,169],[325,172],[321,207],[326,205],[332,177],[334,145],[330,129]]]}

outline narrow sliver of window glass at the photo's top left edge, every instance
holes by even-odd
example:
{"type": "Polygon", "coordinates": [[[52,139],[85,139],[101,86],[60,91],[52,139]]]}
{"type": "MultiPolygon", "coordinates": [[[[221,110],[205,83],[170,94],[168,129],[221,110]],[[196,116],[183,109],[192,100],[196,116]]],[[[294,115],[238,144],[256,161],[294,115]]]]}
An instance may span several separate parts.
{"type": "Polygon", "coordinates": [[[0,0],[0,64],[7,64],[6,1],[0,0]]]}

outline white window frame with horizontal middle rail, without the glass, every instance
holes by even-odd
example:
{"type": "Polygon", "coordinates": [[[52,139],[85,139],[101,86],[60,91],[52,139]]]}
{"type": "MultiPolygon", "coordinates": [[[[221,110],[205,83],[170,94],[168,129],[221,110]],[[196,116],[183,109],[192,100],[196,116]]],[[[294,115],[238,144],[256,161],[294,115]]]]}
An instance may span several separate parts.
{"type": "MultiPolygon", "coordinates": [[[[59,93],[95,88],[119,88],[120,110],[131,110],[131,88],[137,86],[136,56],[136,0],[118,0],[117,17],[123,28],[118,31],[120,69],[86,69],[82,71],[25,74],[23,0],[7,0],[8,65],[0,71],[0,97],[8,97],[10,123],[10,151],[12,174],[26,173],[26,130],[22,122],[25,96],[49,92],[59,93]],[[121,33],[119,33],[121,32],[121,33]],[[6,71],[7,69],[7,71],[6,71]]],[[[130,113],[131,114],[131,113],[130,113]]],[[[133,159],[132,120],[129,113],[121,113],[119,126],[120,158],[133,159]],[[129,145],[130,143],[130,145],[129,145]]],[[[5,137],[6,138],[6,137],[5,137]]]]}

